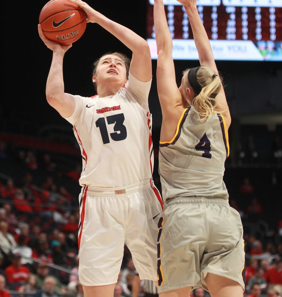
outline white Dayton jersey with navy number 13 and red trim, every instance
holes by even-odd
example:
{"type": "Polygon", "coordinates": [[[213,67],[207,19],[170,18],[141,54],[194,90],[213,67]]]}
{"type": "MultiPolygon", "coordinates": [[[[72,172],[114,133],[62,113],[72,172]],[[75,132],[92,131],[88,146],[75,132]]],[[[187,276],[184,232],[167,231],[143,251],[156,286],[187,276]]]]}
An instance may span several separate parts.
{"type": "Polygon", "coordinates": [[[152,177],[151,82],[129,74],[115,95],[73,96],[75,111],[65,119],[81,149],[81,186],[122,187],[152,177]]]}

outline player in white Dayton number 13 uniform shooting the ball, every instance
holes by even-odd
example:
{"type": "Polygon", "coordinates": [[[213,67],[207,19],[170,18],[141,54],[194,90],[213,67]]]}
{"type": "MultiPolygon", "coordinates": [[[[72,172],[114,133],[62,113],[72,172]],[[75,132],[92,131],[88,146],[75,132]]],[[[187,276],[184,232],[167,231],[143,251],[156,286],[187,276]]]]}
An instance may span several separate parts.
{"type": "MultiPolygon", "coordinates": [[[[152,61],[146,41],[106,18],[83,1],[70,0],[132,50],[103,55],[94,63],[97,95],[64,92],[63,57],[71,45],[39,34],[53,50],[46,98],[73,124],[81,148],[78,226],[79,280],[85,297],[112,297],[121,268],[124,244],[142,279],[157,283],[157,222],[162,199],[152,180],[152,119],[148,95],[152,61]]],[[[98,42],[97,42],[98,43],[98,42]]],[[[96,43],[96,44],[97,44],[96,43]]]]}

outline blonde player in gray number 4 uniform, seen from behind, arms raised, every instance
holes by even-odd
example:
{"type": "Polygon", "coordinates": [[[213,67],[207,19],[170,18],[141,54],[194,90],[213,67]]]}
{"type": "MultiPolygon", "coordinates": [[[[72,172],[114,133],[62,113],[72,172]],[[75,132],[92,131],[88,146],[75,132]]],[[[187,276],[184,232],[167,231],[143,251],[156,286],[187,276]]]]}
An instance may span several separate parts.
{"type": "Polygon", "coordinates": [[[157,90],[163,114],[159,296],[187,297],[192,288],[203,287],[212,297],[242,297],[243,228],[223,182],[229,108],[196,0],[178,1],[187,12],[201,66],[185,70],[178,88],[163,0],[155,0],[157,90]]]}

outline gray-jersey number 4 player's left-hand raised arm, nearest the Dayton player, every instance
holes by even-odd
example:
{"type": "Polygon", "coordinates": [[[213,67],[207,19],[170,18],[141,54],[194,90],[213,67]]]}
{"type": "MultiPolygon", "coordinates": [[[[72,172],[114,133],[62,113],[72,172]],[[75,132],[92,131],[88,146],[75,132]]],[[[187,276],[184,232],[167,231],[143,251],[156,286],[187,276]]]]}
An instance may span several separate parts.
{"type": "Polygon", "coordinates": [[[182,105],[178,90],[174,61],[172,58],[172,39],[168,29],[163,0],[154,2],[154,27],[157,42],[157,91],[163,118],[170,117],[175,106],[182,105]]]}

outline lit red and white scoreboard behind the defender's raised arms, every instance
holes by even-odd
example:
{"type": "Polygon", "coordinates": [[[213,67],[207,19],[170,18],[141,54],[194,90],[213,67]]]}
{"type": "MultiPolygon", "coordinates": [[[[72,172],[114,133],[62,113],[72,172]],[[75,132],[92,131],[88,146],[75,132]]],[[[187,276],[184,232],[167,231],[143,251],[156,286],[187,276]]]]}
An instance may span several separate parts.
{"type": "MultiPolygon", "coordinates": [[[[147,42],[157,59],[153,0],[147,0],[147,42]]],[[[189,19],[177,0],[163,0],[173,58],[198,60],[189,19]]],[[[198,0],[215,60],[282,61],[282,0],[198,0]]]]}

